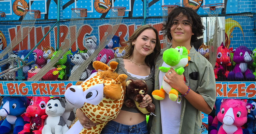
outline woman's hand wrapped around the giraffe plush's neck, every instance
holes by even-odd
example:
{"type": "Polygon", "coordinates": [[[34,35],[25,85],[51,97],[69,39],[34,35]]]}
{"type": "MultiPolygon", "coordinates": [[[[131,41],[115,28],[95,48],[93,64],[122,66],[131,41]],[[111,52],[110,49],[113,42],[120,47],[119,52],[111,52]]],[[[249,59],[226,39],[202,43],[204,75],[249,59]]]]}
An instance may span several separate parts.
{"type": "Polygon", "coordinates": [[[93,123],[92,121],[90,121],[89,118],[87,118],[79,109],[76,109],[76,117],[79,119],[81,125],[86,128],[86,129],[90,129],[93,126],[98,125],[98,123],[93,123]]]}

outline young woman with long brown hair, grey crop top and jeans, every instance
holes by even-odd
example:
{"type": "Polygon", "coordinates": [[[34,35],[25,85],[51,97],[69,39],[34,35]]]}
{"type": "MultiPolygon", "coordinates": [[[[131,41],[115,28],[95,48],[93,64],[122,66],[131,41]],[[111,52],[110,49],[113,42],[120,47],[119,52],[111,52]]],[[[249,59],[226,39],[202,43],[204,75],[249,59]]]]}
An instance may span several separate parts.
{"type": "MultiPolygon", "coordinates": [[[[119,63],[119,74],[126,74],[128,79],[145,80],[148,92],[143,96],[143,101],[140,103],[141,108],[147,107],[148,103],[152,102],[151,93],[154,90],[154,74],[155,61],[160,53],[161,46],[158,38],[158,32],[150,25],[142,25],[129,37],[126,49],[126,54],[123,58],[112,59],[119,63]]],[[[111,62],[109,61],[109,63],[111,62]]],[[[76,116],[84,128],[95,126],[95,123],[79,110],[76,110],[76,116]],[[89,121],[89,122],[88,122],[89,121]]],[[[118,116],[107,123],[101,134],[146,134],[146,116],[137,111],[136,108],[127,108],[125,104],[118,116]]]]}

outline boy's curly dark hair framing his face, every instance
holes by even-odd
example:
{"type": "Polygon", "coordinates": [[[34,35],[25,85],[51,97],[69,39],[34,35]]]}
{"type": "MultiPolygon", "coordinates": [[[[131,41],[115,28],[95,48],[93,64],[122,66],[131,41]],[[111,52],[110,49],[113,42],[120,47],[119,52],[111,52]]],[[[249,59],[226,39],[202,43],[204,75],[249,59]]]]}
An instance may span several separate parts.
{"type": "Polygon", "coordinates": [[[194,33],[194,35],[192,35],[190,42],[196,42],[197,37],[203,35],[203,30],[205,30],[205,28],[202,24],[201,17],[197,14],[196,11],[189,7],[177,6],[171,11],[171,13],[166,17],[166,22],[162,27],[164,35],[167,35],[167,38],[172,40],[171,27],[173,25],[173,20],[175,17],[180,15],[180,13],[188,18],[188,21],[192,27],[192,33],[194,33]]]}

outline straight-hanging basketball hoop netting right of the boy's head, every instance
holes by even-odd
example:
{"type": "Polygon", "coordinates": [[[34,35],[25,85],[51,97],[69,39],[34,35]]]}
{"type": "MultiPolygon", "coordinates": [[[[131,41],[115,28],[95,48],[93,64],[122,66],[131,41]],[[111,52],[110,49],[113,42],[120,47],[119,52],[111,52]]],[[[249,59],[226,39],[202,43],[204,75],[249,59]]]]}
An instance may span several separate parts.
{"type": "Polygon", "coordinates": [[[205,12],[209,15],[208,19],[210,19],[210,23],[207,25],[207,30],[209,35],[207,36],[207,45],[209,46],[209,61],[212,66],[215,65],[216,62],[216,50],[217,50],[217,17],[218,14],[221,12],[222,8],[225,4],[210,4],[210,5],[203,5],[201,6],[205,12]],[[211,40],[211,41],[210,41],[211,40]]]}

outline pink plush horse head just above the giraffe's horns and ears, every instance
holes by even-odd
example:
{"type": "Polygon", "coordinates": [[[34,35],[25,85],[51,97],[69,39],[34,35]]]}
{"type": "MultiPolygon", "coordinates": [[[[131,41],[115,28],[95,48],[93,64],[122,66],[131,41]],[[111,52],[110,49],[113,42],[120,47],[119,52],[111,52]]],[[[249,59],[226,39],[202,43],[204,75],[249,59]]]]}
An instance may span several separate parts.
{"type": "Polygon", "coordinates": [[[114,58],[114,50],[113,49],[102,49],[98,54],[96,60],[107,64],[110,60],[114,58]]]}

